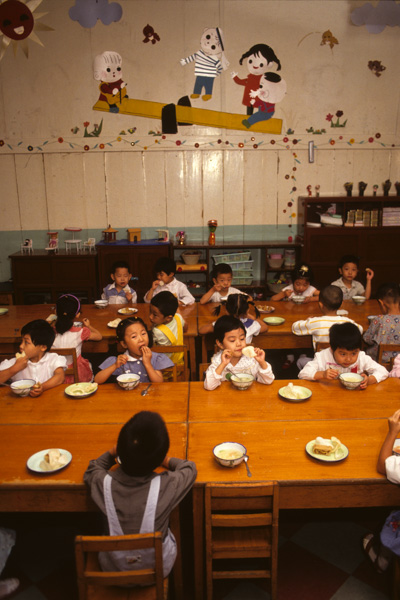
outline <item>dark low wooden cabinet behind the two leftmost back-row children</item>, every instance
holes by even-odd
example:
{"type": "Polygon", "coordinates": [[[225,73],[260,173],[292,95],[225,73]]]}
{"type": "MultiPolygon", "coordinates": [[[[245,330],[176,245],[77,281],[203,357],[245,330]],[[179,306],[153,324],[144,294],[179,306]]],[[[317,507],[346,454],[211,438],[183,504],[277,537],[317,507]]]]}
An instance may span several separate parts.
{"type": "Polygon", "coordinates": [[[156,240],[142,240],[140,242],[118,240],[115,243],[99,242],[96,244],[96,250],[99,294],[108,283],[112,283],[110,274],[114,262],[124,260],[129,264],[132,276],[137,278],[134,279],[131,287],[137,293],[138,302],[143,302],[143,296],[154,281],[154,264],[158,258],[172,255],[172,244],[170,242],[157,242],[156,240]]]}

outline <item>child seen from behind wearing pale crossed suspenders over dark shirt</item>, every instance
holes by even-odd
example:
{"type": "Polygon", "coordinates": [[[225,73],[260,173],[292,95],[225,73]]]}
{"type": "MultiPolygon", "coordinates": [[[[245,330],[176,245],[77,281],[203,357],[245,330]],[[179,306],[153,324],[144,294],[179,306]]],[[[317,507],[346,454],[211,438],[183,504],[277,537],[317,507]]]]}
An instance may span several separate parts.
{"type": "MultiPolygon", "coordinates": [[[[117,445],[91,460],[84,474],[94,502],[107,517],[108,535],[162,532],[164,577],[170,573],[176,557],[175,538],[168,528],[169,515],[197,475],[193,462],[169,457],[168,450],[169,436],[163,419],[158,413],[142,411],[122,427],[117,445]],[[113,468],[116,461],[117,469],[113,468]],[[155,473],[160,466],[167,470],[155,473]]],[[[152,566],[151,562],[144,564],[144,553],[141,560],[130,563],[126,555],[116,559],[118,554],[124,553],[99,554],[103,571],[152,566]]],[[[151,559],[154,566],[154,555],[151,559]]]]}

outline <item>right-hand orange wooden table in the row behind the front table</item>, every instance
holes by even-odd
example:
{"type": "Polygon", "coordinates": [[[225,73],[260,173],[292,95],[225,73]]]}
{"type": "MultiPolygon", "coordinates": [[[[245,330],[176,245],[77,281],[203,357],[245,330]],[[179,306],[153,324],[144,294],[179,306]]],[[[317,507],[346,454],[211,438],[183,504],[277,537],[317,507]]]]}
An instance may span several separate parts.
{"type": "MultiPolygon", "coordinates": [[[[282,325],[270,325],[266,333],[253,338],[253,343],[259,348],[264,349],[283,349],[283,348],[311,348],[311,336],[298,336],[292,333],[292,325],[295,321],[308,319],[309,317],[321,316],[318,302],[307,302],[306,304],[295,304],[290,301],[281,302],[256,302],[256,305],[273,306],[275,311],[270,315],[262,314],[262,317],[276,316],[283,317],[285,322],[282,325]]],[[[198,326],[216,320],[213,315],[217,303],[199,304],[198,307],[198,326]]],[[[348,311],[348,317],[356,323],[363,326],[364,331],[368,328],[368,315],[380,314],[380,306],[377,300],[366,300],[364,304],[357,305],[352,300],[346,300],[342,304],[342,309],[348,311]]],[[[221,310],[221,315],[226,314],[221,310]]],[[[207,351],[214,348],[212,334],[202,336],[202,362],[207,362],[207,351]]]]}

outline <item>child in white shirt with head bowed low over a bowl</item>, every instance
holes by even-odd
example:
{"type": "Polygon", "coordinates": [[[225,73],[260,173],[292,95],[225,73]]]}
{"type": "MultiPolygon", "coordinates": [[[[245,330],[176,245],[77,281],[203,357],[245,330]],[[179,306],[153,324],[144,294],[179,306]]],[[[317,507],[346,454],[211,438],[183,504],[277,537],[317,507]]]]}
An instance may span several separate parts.
{"type": "Polygon", "coordinates": [[[354,323],[336,323],[329,330],[330,347],[317,352],[299,373],[299,379],[320,381],[336,379],[340,373],[360,373],[364,381],[360,389],[379,383],[389,375],[361,350],[362,337],[354,323]]]}

